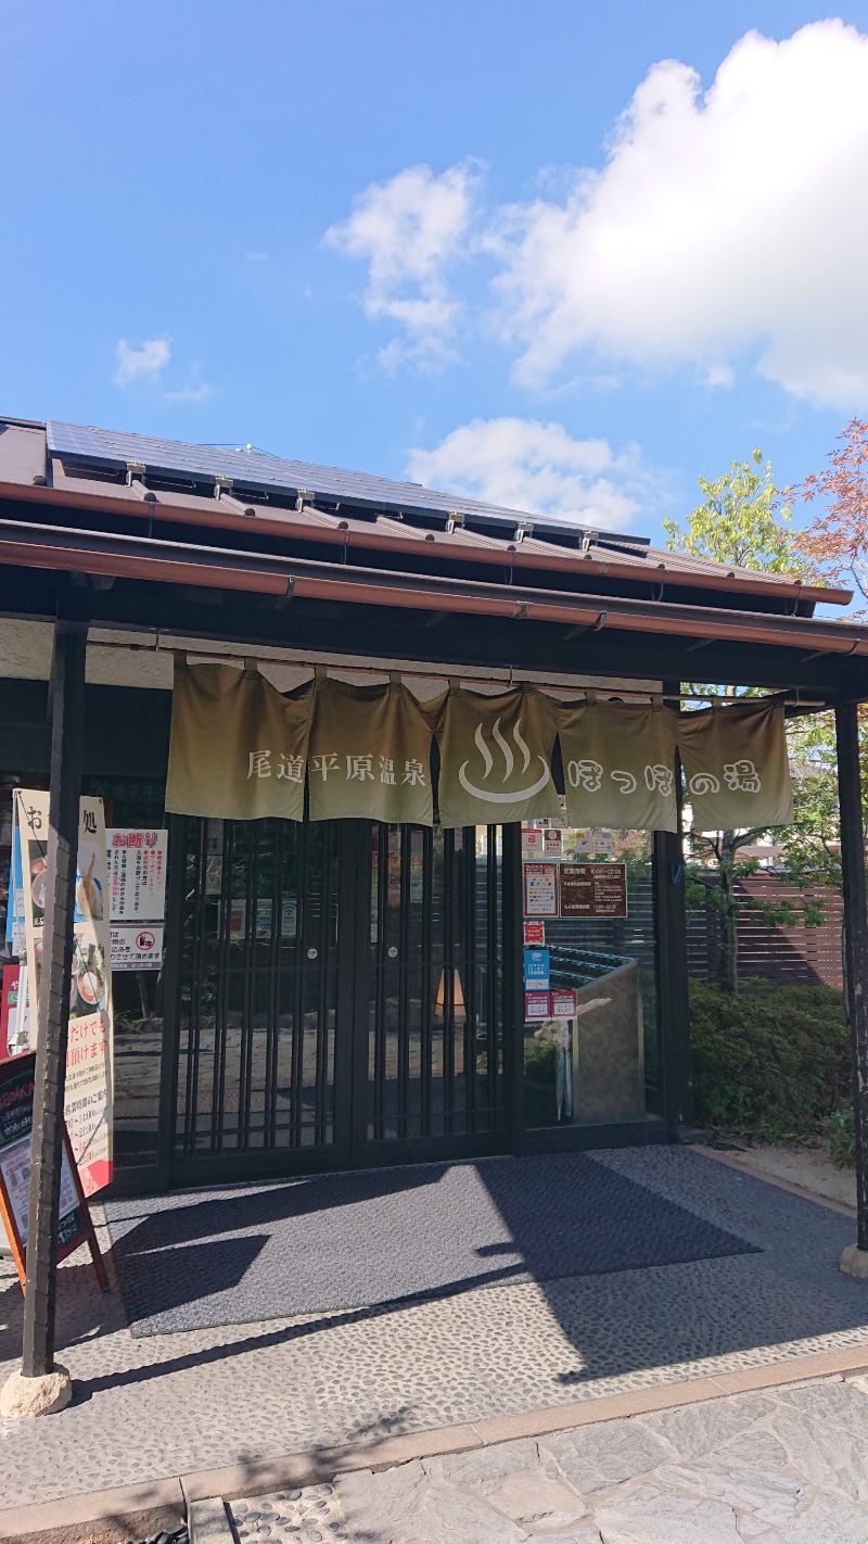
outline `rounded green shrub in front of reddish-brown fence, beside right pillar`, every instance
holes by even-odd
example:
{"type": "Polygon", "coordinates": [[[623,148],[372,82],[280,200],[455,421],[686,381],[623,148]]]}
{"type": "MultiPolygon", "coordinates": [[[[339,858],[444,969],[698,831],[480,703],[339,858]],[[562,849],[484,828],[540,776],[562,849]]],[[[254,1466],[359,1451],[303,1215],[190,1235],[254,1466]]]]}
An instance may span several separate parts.
{"type": "Polygon", "coordinates": [[[799,1138],[846,1104],[849,1031],[831,987],[752,980],[735,996],[691,982],[691,1045],[701,1126],[799,1138]]]}

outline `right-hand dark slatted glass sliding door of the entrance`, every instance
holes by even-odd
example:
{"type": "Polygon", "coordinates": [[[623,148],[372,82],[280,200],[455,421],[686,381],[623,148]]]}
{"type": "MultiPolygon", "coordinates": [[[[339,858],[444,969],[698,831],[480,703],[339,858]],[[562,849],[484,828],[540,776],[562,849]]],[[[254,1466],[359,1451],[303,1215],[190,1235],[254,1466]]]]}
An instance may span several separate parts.
{"type": "Polygon", "coordinates": [[[373,826],[368,1144],[506,1124],[500,846],[496,826],[373,826]]]}

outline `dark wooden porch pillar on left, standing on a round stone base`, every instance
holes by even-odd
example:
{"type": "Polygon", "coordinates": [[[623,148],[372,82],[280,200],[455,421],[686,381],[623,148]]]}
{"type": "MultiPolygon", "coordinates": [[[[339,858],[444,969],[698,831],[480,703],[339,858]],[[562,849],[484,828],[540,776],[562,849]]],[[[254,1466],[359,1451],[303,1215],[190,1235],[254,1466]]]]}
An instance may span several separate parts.
{"type": "MultiPolygon", "coordinates": [[[[39,1044],[35,1055],[28,1280],[22,1373],[42,1377],[54,1370],[54,1302],[57,1226],[72,916],[79,851],[79,800],[85,727],[85,653],[88,628],[56,622],[51,662],[51,783],[48,814],[48,886],[45,899],[39,1044]]],[[[25,871],[26,872],[26,871],[25,871]]]]}

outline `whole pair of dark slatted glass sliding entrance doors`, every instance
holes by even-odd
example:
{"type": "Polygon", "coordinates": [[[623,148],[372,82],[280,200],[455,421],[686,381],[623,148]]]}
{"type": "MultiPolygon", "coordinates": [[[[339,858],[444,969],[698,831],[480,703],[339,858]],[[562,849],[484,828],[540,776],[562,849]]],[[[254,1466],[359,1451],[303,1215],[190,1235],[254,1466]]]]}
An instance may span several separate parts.
{"type": "Polygon", "coordinates": [[[500,828],[174,817],[171,875],[171,1183],[496,1146],[500,828]]]}

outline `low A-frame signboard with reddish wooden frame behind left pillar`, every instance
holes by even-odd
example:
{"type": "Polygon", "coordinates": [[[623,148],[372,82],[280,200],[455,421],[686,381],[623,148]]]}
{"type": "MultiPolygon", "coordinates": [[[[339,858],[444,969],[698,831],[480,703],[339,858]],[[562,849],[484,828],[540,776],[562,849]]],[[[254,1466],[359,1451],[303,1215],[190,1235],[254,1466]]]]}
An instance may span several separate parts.
{"type": "MultiPolygon", "coordinates": [[[[0,1068],[0,1212],[22,1286],[26,1280],[28,1217],[31,1195],[31,1139],[35,1055],[17,1056],[0,1068]]],[[[71,1161],[71,1143],[63,1130],[60,1156],[60,1217],[57,1258],[65,1260],[86,1243],[103,1292],[108,1280],[94,1237],[80,1178],[71,1161]]]]}

